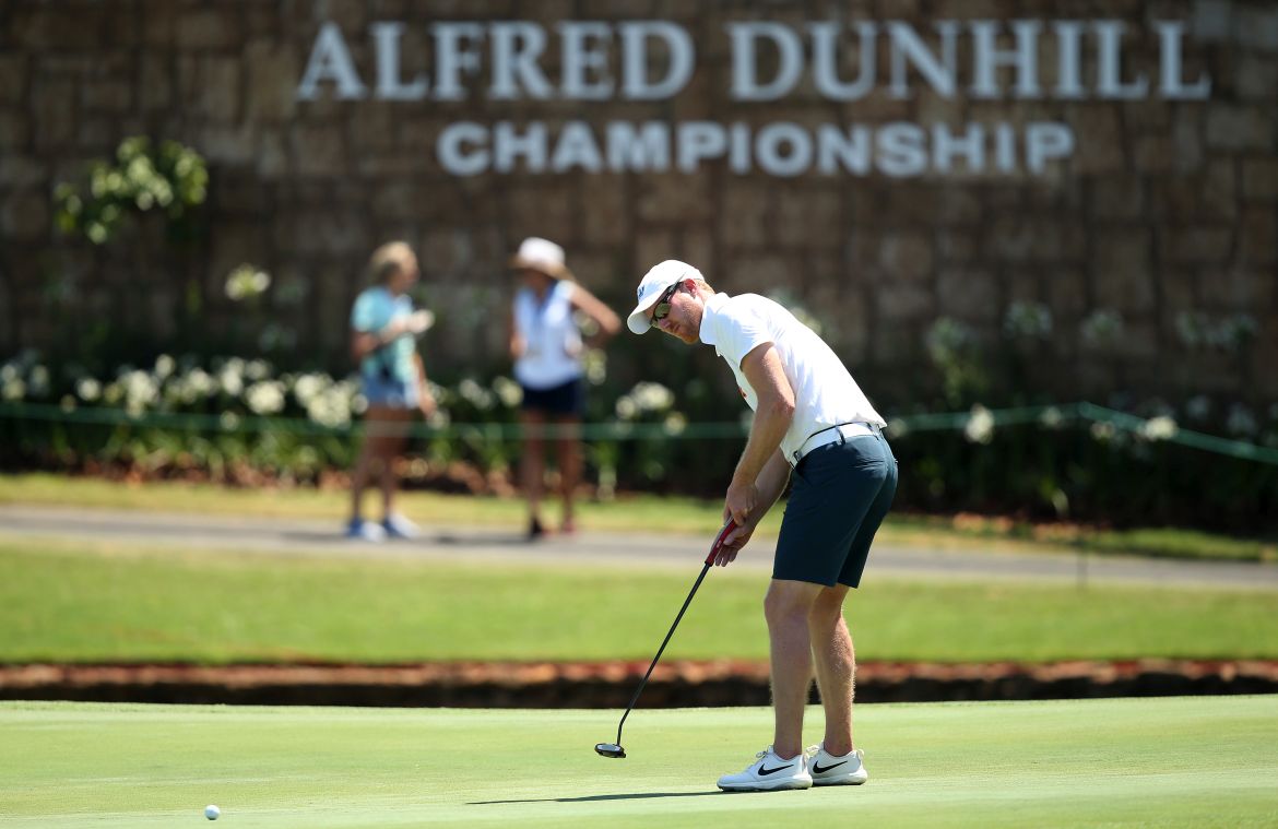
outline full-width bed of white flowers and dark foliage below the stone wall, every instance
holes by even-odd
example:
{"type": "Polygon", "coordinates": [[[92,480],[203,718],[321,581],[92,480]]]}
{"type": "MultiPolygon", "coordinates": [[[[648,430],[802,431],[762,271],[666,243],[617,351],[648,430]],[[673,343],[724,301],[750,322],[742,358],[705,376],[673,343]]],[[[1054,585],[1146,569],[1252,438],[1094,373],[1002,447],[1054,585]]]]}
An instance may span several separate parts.
{"type": "MultiPolygon", "coordinates": [[[[935,335],[946,350],[966,342],[961,326],[935,335]]],[[[31,350],[0,361],[0,470],[128,470],[249,484],[318,482],[349,470],[366,405],[357,377],[280,372],[268,360],[238,356],[161,354],[148,363],[95,374],[45,364],[31,350]]],[[[734,401],[740,423],[704,415],[689,423],[681,409],[708,393],[697,382],[677,393],[640,382],[616,396],[606,388],[589,396],[587,461],[601,497],[617,488],[721,494],[750,411],[734,401]],[[705,437],[707,425],[714,437],[705,437]]],[[[509,482],[523,451],[519,384],[466,377],[432,384],[432,392],[440,407],[422,432],[437,432],[413,447],[410,475],[460,465],[475,470],[475,485],[489,482],[496,491],[493,476],[509,482]]],[[[1126,420],[1080,418],[1072,406],[1008,418],[1006,409],[975,402],[948,427],[915,420],[907,428],[909,414],[884,406],[901,462],[897,503],[1226,529],[1273,516],[1278,466],[1204,452],[1183,438],[1206,433],[1278,448],[1278,404],[1197,395],[1178,405],[1111,407],[1126,420]]]]}

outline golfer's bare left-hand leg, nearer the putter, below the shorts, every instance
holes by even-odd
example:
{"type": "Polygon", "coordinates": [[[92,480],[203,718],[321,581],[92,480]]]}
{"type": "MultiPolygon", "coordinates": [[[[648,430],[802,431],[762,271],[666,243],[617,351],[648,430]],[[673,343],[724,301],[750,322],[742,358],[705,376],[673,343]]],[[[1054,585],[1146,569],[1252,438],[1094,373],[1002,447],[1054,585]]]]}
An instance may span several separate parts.
{"type": "Polygon", "coordinates": [[[776,733],[772,750],[789,760],[803,751],[803,709],[812,685],[812,641],[808,614],[819,584],[773,579],[763,602],[772,645],[772,708],[776,733]]]}

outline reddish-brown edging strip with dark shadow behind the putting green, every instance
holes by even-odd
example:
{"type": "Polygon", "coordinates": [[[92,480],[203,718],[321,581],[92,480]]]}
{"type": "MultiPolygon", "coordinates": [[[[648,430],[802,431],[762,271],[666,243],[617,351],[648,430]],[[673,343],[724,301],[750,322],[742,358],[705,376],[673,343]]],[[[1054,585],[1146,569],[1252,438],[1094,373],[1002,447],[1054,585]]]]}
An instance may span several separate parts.
{"type": "MultiPolygon", "coordinates": [[[[624,708],[647,662],[401,665],[0,665],[0,699],[239,705],[624,708]]],[[[865,662],[861,703],[1278,694],[1275,660],[1134,659],[1020,664],[865,662]]],[[[813,697],[815,700],[815,696],[813,697]]],[[[642,708],[767,705],[767,663],[671,660],[642,708]]]]}

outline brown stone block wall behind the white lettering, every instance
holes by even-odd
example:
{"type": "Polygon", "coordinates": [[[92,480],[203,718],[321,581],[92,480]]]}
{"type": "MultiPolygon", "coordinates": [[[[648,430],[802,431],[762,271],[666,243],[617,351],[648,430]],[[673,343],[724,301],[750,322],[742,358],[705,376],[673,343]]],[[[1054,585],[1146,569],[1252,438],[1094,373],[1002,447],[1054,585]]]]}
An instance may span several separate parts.
{"type": "MultiPolygon", "coordinates": [[[[999,43],[1010,47],[1006,32],[999,43]]],[[[971,46],[964,40],[958,49],[966,65],[971,46]]],[[[1042,83],[1049,86],[1059,80],[1052,42],[1042,50],[1042,83]]],[[[1097,51],[1089,41],[1089,82],[1099,72],[1097,51]]],[[[543,68],[555,77],[557,52],[547,55],[543,68]]],[[[760,73],[774,70],[774,56],[760,55],[760,73]]],[[[616,69],[619,57],[608,60],[616,69]]],[[[878,64],[886,75],[886,52],[878,64]]],[[[504,335],[488,322],[502,318],[509,301],[502,266],[523,236],[535,234],[564,244],[570,266],[619,310],[638,276],[670,257],[697,263],[728,293],[785,286],[826,322],[855,373],[883,382],[920,374],[925,333],[942,316],[1002,347],[1006,314],[1020,301],[1051,310],[1051,332],[1033,356],[1051,367],[1040,381],[1062,397],[1131,390],[1272,400],[1275,100],[1278,8],[1263,0],[10,0],[0,6],[0,354],[50,347],[104,319],[142,327],[164,344],[181,333],[178,309],[196,300],[212,331],[242,331],[234,326],[245,312],[222,282],[249,262],[273,276],[272,291],[286,286],[294,298],[268,294],[261,321],[279,322],[311,354],[340,361],[363,262],[378,243],[403,238],[423,259],[426,294],[440,316],[432,353],[496,361],[504,335]],[[734,20],[771,19],[796,31],[820,20],[902,20],[935,47],[933,20],[979,18],[1123,20],[1132,33],[1123,47],[1128,79],[1159,70],[1153,22],[1178,20],[1186,27],[1181,74],[1189,83],[1206,73],[1212,91],[1205,100],[978,100],[962,89],[938,95],[915,72],[904,98],[884,84],[863,100],[832,102],[806,75],[769,103],[727,93],[725,24],[734,20]],[[326,23],[336,24],[371,84],[371,24],[404,23],[408,79],[431,66],[432,23],[501,19],[542,24],[552,46],[560,20],[671,20],[693,34],[695,70],[676,96],[657,101],[502,102],[479,93],[452,102],[341,100],[332,83],[299,100],[326,23]],[[594,126],[704,119],[812,129],[1054,121],[1072,129],[1076,146],[1040,174],[987,165],[975,172],[786,178],[758,167],[739,174],[711,160],[690,172],[516,166],[463,176],[438,158],[436,142],[458,121],[558,128],[578,119],[594,126]],[[208,232],[194,248],[170,249],[146,222],[106,249],[52,229],[55,185],[81,180],[88,160],[134,134],[176,139],[207,158],[208,232]],[[1085,336],[1098,310],[1121,316],[1116,340],[1085,336]],[[1213,340],[1204,331],[1246,330],[1247,319],[1255,332],[1241,342],[1204,341],[1213,340]]],[[[243,332],[257,331],[253,324],[243,332]]],[[[247,338],[243,347],[254,344],[247,338]]],[[[631,347],[621,346],[622,354],[631,347]]]]}

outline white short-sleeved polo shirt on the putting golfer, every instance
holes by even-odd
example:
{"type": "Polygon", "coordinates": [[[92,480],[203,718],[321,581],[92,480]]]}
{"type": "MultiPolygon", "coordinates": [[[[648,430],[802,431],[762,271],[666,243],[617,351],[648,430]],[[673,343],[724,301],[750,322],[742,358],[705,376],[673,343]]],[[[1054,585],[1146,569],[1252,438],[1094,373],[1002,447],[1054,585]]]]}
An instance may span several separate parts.
{"type": "Polygon", "coordinates": [[[741,373],[741,360],[764,342],[776,347],[795,392],[794,420],[781,439],[781,451],[787,459],[794,457],[812,434],[829,427],[841,423],[887,425],[826,341],[766,296],[714,294],[705,300],[700,337],[727,360],[750,409],[758,409],[759,395],[741,373]]]}

